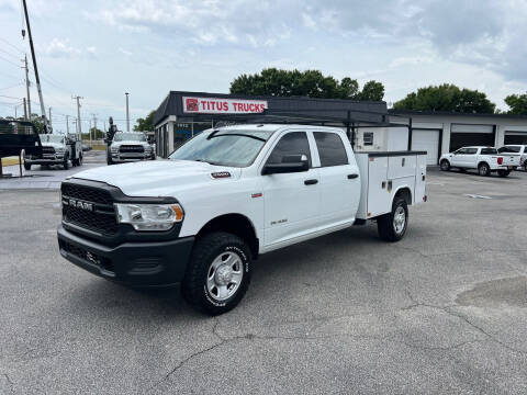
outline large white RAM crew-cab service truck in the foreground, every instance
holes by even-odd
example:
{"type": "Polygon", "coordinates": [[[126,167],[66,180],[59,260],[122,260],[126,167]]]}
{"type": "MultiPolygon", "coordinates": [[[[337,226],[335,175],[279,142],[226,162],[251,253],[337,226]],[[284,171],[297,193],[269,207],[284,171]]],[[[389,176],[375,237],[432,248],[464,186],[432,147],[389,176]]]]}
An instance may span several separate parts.
{"type": "MultiPolygon", "coordinates": [[[[87,170],[61,184],[63,257],[135,286],[181,283],[209,314],[242,300],[260,253],[375,219],[405,235],[426,202],[426,153],[354,154],[340,128],[208,129],[168,160],[87,170]]],[[[328,246],[327,248],[330,248],[328,246]]]]}

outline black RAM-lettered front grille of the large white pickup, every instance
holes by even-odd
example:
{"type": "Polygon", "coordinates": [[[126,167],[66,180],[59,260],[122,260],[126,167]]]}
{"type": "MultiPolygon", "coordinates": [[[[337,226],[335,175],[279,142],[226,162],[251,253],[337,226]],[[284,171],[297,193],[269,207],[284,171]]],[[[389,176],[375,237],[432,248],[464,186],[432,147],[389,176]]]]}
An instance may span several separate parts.
{"type": "Polygon", "coordinates": [[[60,191],[65,222],[101,234],[117,233],[113,199],[108,191],[71,183],[63,183],[60,191]]]}

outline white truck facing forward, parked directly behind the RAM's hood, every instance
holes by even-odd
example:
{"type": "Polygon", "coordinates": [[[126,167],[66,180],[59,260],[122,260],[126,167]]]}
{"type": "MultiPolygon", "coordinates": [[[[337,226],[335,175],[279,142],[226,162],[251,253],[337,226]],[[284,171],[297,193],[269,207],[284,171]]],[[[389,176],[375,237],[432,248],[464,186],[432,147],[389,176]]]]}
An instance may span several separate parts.
{"type": "Polygon", "coordinates": [[[108,147],[108,165],[122,163],[137,160],[150,160],[153,148],[148,144],[145,133],[117,132],[108,147]]]}

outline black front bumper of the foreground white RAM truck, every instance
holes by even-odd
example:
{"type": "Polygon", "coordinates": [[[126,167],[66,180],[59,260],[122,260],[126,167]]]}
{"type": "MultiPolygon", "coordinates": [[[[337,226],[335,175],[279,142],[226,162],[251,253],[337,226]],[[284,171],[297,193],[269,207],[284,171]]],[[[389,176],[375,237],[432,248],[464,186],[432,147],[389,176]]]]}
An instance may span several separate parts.
{"type": "Polygon", "coordinates": [[[167,286],[184,276],[194,237],[123,242],[108,247],[65,229],[57,230],[60,255],[104,279],[134,286],[167,286]]]}

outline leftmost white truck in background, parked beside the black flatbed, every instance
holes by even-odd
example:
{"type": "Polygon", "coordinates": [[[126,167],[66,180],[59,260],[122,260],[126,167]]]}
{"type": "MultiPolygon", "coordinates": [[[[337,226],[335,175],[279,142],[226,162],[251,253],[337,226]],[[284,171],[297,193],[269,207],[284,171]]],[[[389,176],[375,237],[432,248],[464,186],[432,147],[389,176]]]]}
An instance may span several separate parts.
{"type": "Polygon", "coordinates": [[[82,140],[78,134],[41,134],[42,156],[24,154],[24,169],[33,165],[61,165],[66,170],[71,166],[82,165],[82,140]]]}

